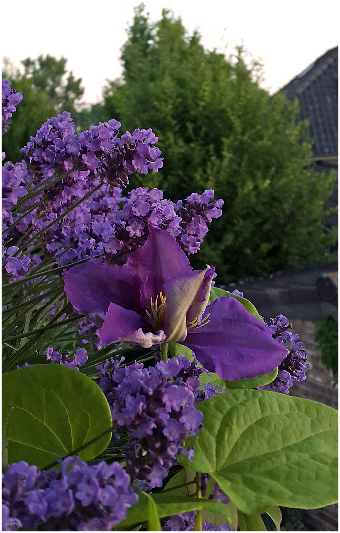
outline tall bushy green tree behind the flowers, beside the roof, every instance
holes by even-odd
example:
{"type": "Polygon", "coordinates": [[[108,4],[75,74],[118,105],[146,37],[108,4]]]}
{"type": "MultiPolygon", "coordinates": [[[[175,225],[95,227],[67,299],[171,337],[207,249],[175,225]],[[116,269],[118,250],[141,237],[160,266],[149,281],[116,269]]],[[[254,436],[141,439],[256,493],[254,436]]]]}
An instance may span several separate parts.
{"type": "Polygon", "coordinates": [[[324,231],[324,204],[335,173],[309,164],[297,102],[261,90],[261,66],[247,66],[242,48],[226,61],[168,11],[152,24],[143,9],[135,9],[122,48],[123,80],[110,82],[103,108],[93,108],[93,118],[152,127],[159,136],[157,182],[138,176],[131,188],[158,185],[174,201],[213,188],[225,200],[192,258],[196,268],[214,264],[220,283],[327,261],[336,235],[324,231]]]}

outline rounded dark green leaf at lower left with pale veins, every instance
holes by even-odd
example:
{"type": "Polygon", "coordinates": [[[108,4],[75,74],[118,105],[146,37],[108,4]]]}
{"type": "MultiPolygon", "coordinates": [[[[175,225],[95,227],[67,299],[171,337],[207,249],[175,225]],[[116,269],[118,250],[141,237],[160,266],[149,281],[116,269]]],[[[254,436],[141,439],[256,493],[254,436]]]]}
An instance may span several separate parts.
{"type": "MultiPolygon", "coordinates": [[[[3,421],[9,427],[9,463],[44,467],[112,426],[105,395],[92,379],[62,365],[34,365],[3,374],[3,421]]],[[[84,461],[101,453],[111,435],[80,452],[84,461]]]]}

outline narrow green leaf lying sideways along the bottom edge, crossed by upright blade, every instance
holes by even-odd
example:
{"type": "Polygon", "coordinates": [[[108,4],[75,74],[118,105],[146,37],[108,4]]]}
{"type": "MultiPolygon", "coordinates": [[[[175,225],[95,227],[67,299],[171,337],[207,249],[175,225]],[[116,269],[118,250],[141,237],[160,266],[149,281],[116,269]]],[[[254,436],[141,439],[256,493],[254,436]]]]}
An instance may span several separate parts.
{"type": "MultiPolygon", "coordinates": [[[[116,528],[117,530],[126,531],[133,524],[146,522],[148,520],[148,497],[144,492],[138,492],[138,495],[139,502],[129,509],[127,518],[119,523],[116,528]]],[[[162,492],[157,492],[152,495],[152,499],[157,506],[159,518],[196,511],[198,509],[207,509],[208,511],[219,513],[224,516],[224,523],[229,523],[228,521],[230,520],[228,506],[214,502],[214,500],[185,498],[183,496],[171,495],[171,492],[165,492],[164,494],[162,494],[162,492]]]]}

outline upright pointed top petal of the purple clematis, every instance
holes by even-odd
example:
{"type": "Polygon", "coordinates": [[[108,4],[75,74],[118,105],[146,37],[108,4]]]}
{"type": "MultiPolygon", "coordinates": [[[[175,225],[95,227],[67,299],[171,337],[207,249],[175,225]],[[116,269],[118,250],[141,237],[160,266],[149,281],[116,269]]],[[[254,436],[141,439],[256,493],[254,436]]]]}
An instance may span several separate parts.
{"type": "Polygon", "coordinates": [[[187,256],[169,233],[150,225],[149,231],[145,245],[129,256],[132,269],[143,280],[141,303],[145,308],[150,308],[151,297],[155,301],[166,281],[192,271],[187,256]]]}

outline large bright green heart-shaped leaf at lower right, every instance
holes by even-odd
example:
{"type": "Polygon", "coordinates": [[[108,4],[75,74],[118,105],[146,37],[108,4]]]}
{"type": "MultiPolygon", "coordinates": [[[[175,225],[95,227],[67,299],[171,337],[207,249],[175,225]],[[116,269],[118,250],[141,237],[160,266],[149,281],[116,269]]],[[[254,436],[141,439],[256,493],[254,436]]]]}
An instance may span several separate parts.
{"type": "Polygon", "coordinates": [[[204,400],[193,463],[247,514],[270,506],[311,509],[337,500],[337,411],[285,394],[234,390],[204,400]]]}

